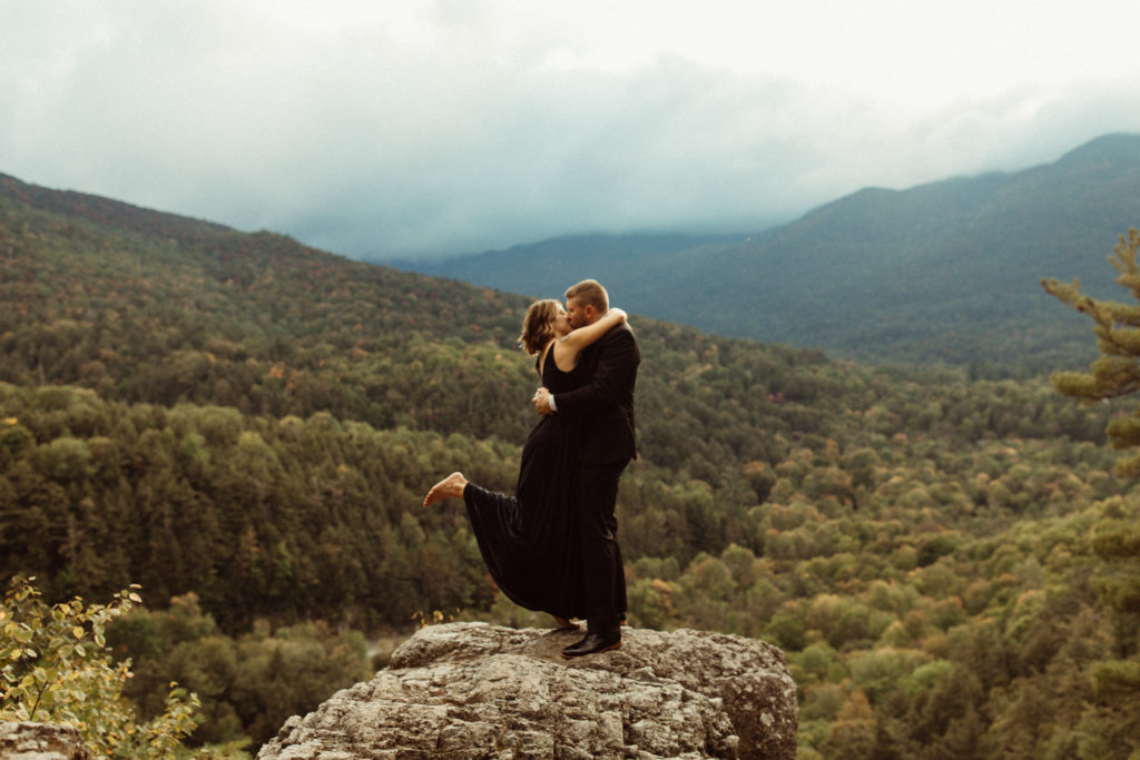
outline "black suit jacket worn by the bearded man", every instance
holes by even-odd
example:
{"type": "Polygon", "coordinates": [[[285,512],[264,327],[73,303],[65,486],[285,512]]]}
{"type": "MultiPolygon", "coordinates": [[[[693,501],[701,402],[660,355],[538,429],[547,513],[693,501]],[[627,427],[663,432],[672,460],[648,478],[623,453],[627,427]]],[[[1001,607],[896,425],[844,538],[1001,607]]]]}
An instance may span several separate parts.
{"type": "Polygon", "coordinates": [[[581,423],[581,461],[605,465],[637,456],[634,438],[634,385],[641,351],[628,325],[619,325],[578,358],[589,381],[559,393],[557,414],[581,423]]]}

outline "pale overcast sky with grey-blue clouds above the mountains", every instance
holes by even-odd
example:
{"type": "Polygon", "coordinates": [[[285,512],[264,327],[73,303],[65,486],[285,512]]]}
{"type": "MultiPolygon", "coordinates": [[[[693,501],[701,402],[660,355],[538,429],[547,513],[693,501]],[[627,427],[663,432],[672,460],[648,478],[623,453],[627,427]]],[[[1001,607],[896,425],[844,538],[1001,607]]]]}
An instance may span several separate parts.
{"type": "Polygon", "coordinates": [[[0,173],[353,258],[756,231],[1140,132],[1135,0],[0,0],[0,173]]]}

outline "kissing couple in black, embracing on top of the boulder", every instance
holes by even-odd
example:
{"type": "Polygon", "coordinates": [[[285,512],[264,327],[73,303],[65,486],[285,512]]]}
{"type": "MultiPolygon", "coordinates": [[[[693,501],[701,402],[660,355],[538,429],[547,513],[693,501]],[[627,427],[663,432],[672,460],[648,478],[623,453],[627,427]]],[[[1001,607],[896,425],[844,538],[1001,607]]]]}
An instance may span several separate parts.
{"type": "Polygon", "coordinates": [[[498,588],[515,604],[548,612],[560,628],[585,620],[586,636],[562,651],[578,657],[621,646],[626,581],[614,505],[636,456],[634,385],[641,353],[626,313],[597,281],[527,310],[520,342],[536,357],[542,419],[522,449],[514,496],[451,473],[424,498],[462,497],[498,588]]]}

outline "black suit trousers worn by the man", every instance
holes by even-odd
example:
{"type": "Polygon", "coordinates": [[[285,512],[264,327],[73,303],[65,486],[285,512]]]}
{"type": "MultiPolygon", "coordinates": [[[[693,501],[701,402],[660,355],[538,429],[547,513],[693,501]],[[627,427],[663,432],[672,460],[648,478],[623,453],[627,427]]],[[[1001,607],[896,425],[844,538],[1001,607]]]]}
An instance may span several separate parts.
{"type": "Polygon", "coordinates": [[[589,634],[616,632],[626,616],[626,572],[613,512],[627,464],[584,465],[581,471],[579,536],[589,634]]]}

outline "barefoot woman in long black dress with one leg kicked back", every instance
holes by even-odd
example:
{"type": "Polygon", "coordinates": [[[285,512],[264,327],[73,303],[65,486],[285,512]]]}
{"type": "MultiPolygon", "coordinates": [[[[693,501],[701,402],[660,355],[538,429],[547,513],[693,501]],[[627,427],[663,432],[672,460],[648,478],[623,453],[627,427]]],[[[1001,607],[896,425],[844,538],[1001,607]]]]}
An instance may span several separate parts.
{"type": "MultiPolygon", "coordinates": [[[[577,371],[578,354],[626,320],[610,309],[593,325],[571,329],[565,309],[554,300],[536,301],[527,310],[520,343],[537,354],[542,385],[564,393],[585,383],[577,371]]],[[[559,415],[543,417],[527,438],[515,496],[475,485],[451,473],[427,492],[424,506],[462,497],[487,570],[515,604],[548,612],[560,628],[585,618],[585,599],[577,546],[575,499],[578,431],[559,415]]]]}

